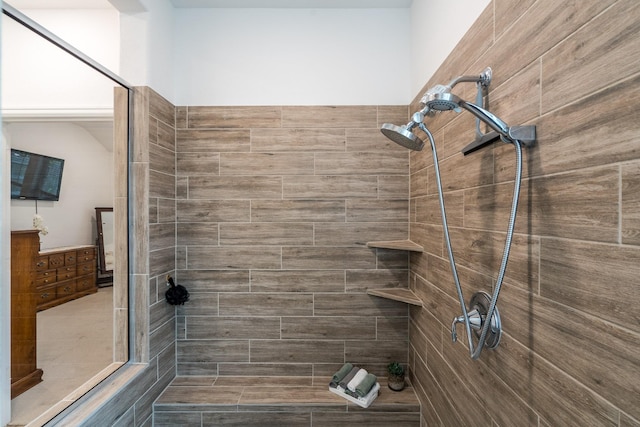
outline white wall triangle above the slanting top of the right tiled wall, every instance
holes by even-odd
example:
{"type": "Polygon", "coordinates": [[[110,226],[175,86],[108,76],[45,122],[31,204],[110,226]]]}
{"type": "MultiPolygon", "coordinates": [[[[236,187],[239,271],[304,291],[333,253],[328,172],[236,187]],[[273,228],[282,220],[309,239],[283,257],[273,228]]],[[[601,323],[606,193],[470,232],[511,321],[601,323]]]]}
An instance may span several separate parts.
{"type": "MultiPolygon", "coordinates": [[[[413,0],[411,4],[411,101],[449,56],[491,0],[413,0]]],[[[484,70],[486,64],[478,70],[484,70]]],[[[460,70],[460,75],[465,70],[460,70]]],[[[455,76],[451,76],[454,78],[455,76]]],[[[441,82],[441,84],[447,84],[441,82]]]]}

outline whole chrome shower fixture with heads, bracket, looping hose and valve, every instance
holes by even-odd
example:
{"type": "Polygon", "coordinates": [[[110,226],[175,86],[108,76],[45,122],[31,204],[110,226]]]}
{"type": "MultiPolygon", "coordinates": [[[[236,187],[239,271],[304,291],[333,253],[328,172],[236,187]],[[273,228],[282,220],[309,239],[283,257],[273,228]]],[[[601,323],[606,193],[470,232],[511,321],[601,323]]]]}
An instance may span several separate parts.
{"type": "MultiPolygon", "coordinates": [[[[440,201],[440,213],[442,216],[442,226],[444,230],[445,243],[447,247],[447,253],[449,256],[449,264],[453,275],[453,281],[456,285],[456,291],[458,294],[458,300],[460,302],[460,308],[462,315],[453,319],[451,324],[451,339],[453,342],[457,341],[456,326],[458,323],[462,323],[465,327],[467,335],[469,353],[471,358],[476,360],[480,357],[483,347],[496,348],[500,342],[502,336],[502,325],[500,321],[500,314],[496,304],[498,302],[498,296],[500,295],[500,288],[504,280],[504,275],[507,269],[507,261],[509,259],[509,252],[511,250],[511,242],[513,238],[513,232],[515,228],[515,219],[517,213],[518,199],[520,197],[520,182],[522,179],[522,146],[531,146],[536,139],[536,127],[535,126],[508,126],[503,120],[489,112],[483,102],[482,91],[485,90],[491,83],[491,68],[486,68],[478,76],[460,76],[451,80],[448,85],[436,85],[427,90],[421,99],[423,108],[417,111],[411,117],[411,120],[406,125],[396,126],[391,123],[385,123],[382,125],[380,131],[393,142],[408,148],[410,150],[420,151],[424,147],[425,141],[420,138],[413,130],[419,128],[424,134],[427,135],[429,143],[431,144],[431,152],[433,155],[433,166],[436,175],[436,187],[438,189],[438,197],[440,201]],[[461,82],[474,82],[478,86],[478,97],[476,104],[467,102],[457,95],[451,93],[451,89],[461,82]],[[480,104],[480,105],[479,105],[480,104]],[[493,295],[489,295],[485,292],[476,292],[469,302],[469,308],[467,308],[462,294],[462,287],[458,277],[458,271],[456,262],[453,256],[453,249],[451,246],[451,239],[449,237],[449,227],[447,225],[447,215],[444,205],[444,195],[442,191],[442,182],[440,179],[440,167],[438,163],[438,155],[436,153],[436,145],[433,139],[433,135],[427,129],[424,124],[424,119],[427,114],[432,111],[449,111],[454,110],[460,112],[462,109],[469,111],[476,117],[477,137],[476,141],[471,145],[474,145],[473,150],[479,149],[495,141],[498,137],[505,143],[511,143],[516,150],[516,177],[514,180],[513,198],[511,202],[511,212],[509,215],[509,225],[507,228],[507,235],[504,244],[504,251],[502,254],[502,262],[500,263],[500,269],[494,286],[493,295]],[[479,132],[480,121],[486,123],[493,132],[484,135],[479,132]],[[477,344],[474,345],[473,337],[476,337],[477,344]]],[[[465,147],[467,149],[469,146],[465,147]]],[[[463,149],[463,153],[467,154],[463,149]]],[[[470,151],[468,151],[470,152],[470,151]]]]}

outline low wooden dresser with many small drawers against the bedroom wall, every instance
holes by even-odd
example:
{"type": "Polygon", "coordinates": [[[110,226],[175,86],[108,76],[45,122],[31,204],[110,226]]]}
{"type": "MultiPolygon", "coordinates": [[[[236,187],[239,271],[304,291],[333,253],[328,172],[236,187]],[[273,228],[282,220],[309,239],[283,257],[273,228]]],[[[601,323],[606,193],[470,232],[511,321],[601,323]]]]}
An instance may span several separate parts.
{"type": "Polygon", "coordinates": [[[98,291],[95,246],[69,246],[41,251],[34,271],[38,311],[98,291]]]}

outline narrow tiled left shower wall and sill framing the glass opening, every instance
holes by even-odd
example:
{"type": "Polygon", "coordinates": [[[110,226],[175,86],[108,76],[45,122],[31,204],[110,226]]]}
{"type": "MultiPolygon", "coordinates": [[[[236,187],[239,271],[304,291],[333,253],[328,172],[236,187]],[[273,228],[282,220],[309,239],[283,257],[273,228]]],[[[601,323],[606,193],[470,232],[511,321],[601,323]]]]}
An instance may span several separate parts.
{"type": "Polygon", "coordinates": [[[175,237],[166,232],[175,229],[175,107],[148,87],[133,90],[132,105],[130,173],[118,172],[131,182],[123,206],[133,212],[125,281],[131,363],[55,425],[150,426],[153,402],[175,377],[175,308],[164,301],[165,275],[175,271],[175,237]]]}

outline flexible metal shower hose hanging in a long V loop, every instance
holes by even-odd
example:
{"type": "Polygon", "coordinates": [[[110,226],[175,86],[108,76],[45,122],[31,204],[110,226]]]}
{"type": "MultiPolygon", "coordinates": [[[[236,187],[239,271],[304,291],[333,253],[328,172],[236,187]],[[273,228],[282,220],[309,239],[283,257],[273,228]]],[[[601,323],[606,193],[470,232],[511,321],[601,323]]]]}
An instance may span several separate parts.
{"type": "Polygon", "coordinates": [[[464,318],[464,326],[465,331],[467,333],[467,339],[469,341],[469,354],[473,360],[477,360],[480,357],[480,353],[482,352],[482,348],[484,347],[484,343],[487,339],[487,334],[489,332],[489,328],[491,327],[491,319],[493,317],[493,313],[496,308],[496,304],[498,303],[498,296],[500,295],[500,288],[502,287],[502,282],[504,280],[504,275],[507,270],[507,262],[509,260],[509,252],[511,250],[511,241],[513,239],[513,230],[515,228],[516,223],[516,213],[518,211],[518,199],[520,198],[520,182],[522,180],[522,147],[520,146],[520,141],[513,140],[512,142],[516,149],[516,177],[513,188],[513,201],[511,203],[511,215],[509,217],[509,226],[507,229],[507,237],[505,239],[504,251],[502,254],[502,262],[500,264],[500,270],[498,272],[498,278],[496,280],[496,285],[493,291],[493,296],[491,298],[491,302],[489,304],[489,310],[485,316],[485,320],[482,326],[482,332],[480,333],[480,338],[478,339],[478,345],[474,348],[473,338],[471,335],[471,324],[469,322],[469,314],[467,312],[467,307],[464,302],[464,296],[462,294],[462,287],[460,286],[460,279],[458,278],[458,270],[456,268],[455,259],[453,256],[453,250],[451,248],[451,239],[449,237],[449,226],[447,225],[447,215],[444,206],[444,196],[442,194],[442,182],[440,179],[440,167],[438,164],[438,154],[436,152],[436,144],[433,139],[433,135],[427,129],[427,127],[423,124],[419,124],[420,129],[427,134],[429,137],[429,142],[431,144],[431,153],[433,154],[433,167],[436,173],[436,184],[438,187],[438,198],[440,199],[440,212],[442,214],[442,225],[444,228],[444,236],[445,242],[447,244],[447,252],[449,255],[449,263],[451,264],[451,273],[453,274],[453,281],[456,285],[456,291],[458,293],[458,299],[460,301],[460,307],[462,309],[462,316],[464,318]]]}

